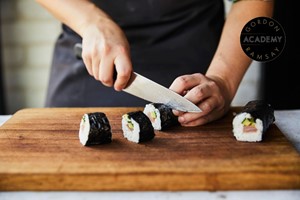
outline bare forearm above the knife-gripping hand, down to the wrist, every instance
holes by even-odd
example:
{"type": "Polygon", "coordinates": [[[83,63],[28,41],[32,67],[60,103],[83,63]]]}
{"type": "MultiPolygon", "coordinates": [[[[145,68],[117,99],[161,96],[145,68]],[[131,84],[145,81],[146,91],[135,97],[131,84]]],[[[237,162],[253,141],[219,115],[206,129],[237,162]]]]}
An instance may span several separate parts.
{"type": "Polygon", "coordinates": [[[110,17],[88,0],[36,0],[59,21],[80,36],[91,24],[105,24],[110,17]],[[99,23],[101,22],[101,23],[99,23]]]}

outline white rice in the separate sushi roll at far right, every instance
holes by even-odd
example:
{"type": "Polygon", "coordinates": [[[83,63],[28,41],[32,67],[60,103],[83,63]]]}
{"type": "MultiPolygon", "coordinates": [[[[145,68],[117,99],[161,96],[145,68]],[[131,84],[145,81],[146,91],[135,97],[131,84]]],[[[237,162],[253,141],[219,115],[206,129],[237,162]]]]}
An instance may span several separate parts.
{"type": "Polygon", "coordinates": [[[244,125],[242,121],[245,118],[251,118],[251,114],[249,113],[240,113],[236,115],[233,119],[233,134],[238,141],[245,142],[259,142],[262,140],[263,135],[263,123],[260,119],[256,119],[255,128],[256,131],[244,132],[244,125]]]}

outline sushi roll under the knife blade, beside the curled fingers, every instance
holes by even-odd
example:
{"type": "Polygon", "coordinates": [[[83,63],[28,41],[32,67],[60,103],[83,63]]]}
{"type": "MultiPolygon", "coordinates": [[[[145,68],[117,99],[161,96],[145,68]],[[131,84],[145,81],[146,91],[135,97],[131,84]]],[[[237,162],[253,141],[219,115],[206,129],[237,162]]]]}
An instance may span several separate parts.
{"type": "Polygon", "coordinates": [[[165,130],[179,125],[177,116],[173,114],[172,108],[165,104],[146,104],[143,112],[148,116],[155,130],[165,130]]]}

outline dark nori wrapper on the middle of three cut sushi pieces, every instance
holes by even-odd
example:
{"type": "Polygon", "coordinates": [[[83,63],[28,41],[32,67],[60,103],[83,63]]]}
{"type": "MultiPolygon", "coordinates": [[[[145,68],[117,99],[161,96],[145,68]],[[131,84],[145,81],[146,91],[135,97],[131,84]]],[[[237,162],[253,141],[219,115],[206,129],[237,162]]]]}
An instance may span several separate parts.
{"type": "Polygon", "coordinates": [[[140,139],[139,142],[152,140],[155,137],[154,128],[150,119],[143,113],[143,111],[129,112],[128,118],[136,121],[140,126],[140,139]]]}

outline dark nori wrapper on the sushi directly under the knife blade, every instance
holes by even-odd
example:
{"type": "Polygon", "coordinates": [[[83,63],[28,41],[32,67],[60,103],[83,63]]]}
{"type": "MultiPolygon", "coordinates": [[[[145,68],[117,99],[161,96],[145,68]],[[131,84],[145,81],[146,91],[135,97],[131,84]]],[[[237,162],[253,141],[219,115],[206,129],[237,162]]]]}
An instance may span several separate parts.
{"type": "Polygon", "coordinates": [[[179,125],[178,117],[173,114],[172,108],[166,104],[153,103],[160,112],[161,130],[179,125]]]}

